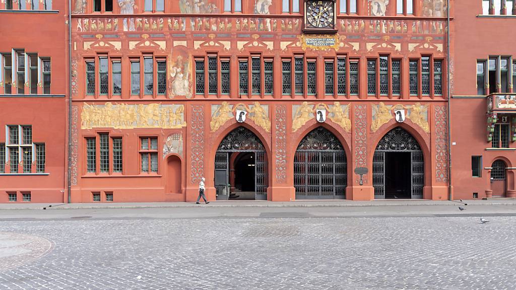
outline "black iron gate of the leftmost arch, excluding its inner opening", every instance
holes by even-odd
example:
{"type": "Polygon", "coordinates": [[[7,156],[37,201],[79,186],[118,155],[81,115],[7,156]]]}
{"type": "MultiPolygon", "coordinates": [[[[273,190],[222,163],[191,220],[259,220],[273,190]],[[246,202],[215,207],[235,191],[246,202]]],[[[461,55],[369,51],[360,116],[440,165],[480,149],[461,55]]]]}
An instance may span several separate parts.
{"type": "Polygon", "coordinates": [[[231,131],[220,142],[215,153],[215,189],[217,200],[228,200],[229,160],[233,152],[254,153],[254,192],[256,200],[267,199],[267,154],[260,139],[245,127],[231,131]]]}

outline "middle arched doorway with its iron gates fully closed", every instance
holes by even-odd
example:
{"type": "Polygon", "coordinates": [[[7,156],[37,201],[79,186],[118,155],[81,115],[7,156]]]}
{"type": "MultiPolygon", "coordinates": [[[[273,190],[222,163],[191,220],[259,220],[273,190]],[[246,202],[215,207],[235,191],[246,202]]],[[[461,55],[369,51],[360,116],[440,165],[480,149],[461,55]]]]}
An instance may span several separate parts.
{"type": "Polygon", "coordinates": [[[315,128],[299,142],[294,155],[296,199],[344,199],[346,185],[341,142],[326,128],[315,128]]]}

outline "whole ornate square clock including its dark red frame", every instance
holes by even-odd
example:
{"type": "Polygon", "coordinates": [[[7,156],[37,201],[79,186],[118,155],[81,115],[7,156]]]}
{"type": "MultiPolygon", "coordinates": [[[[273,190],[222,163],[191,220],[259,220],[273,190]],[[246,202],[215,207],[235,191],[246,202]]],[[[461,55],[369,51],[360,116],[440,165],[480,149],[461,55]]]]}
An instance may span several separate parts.
{"type": "Polygon", "coordinates": [[[336,0],[305,0],[305,33],[336,33],[336,0]]]}

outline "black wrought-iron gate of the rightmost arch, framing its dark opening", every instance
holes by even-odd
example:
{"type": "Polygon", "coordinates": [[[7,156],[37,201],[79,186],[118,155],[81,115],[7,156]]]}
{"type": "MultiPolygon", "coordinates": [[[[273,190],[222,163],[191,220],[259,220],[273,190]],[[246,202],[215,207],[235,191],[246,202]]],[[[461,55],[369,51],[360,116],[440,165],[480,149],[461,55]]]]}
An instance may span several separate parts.
{"type": "Polygon", "coordinates": [[[423,198],[425,164],[423,152],[414,137],[401,127],[389,131],[378,142],[373,155],[373,187],[375,199],[385,198],[385,152],[410,152],[411,198],[423,198]]]}

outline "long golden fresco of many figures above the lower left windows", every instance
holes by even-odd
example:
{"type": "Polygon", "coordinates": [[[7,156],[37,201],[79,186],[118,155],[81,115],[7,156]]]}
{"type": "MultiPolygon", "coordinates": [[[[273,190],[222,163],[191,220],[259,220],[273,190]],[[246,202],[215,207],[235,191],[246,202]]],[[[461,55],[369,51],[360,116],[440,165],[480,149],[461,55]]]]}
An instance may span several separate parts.
{"type": "Polygon", "coordinates": [[[80,114],[81,128],[112,127],[132,128],[181,128],[186,126],[183,105],[152,104],[84,104],[80,114]]]}

